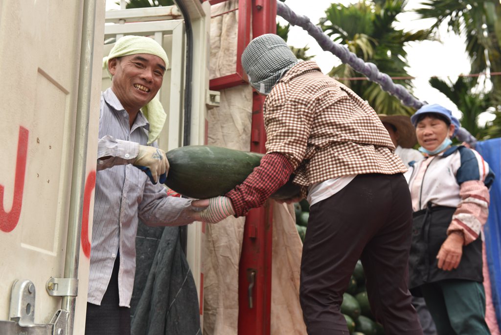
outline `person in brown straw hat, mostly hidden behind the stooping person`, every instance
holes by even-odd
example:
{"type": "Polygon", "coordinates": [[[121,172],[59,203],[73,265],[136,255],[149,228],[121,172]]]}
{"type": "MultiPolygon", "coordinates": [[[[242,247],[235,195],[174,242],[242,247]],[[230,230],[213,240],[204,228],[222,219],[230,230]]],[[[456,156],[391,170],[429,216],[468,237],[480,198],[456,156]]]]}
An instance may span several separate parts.
{"type": "Polygon", "coordinates": [[[395,154],[402,159],[407,168],[409,162],[423,158],[421,152],[412,148],[417,143],[417,138],[409,116],[379,114],[379,119],[390,134],[395,145],[395,154]]]}

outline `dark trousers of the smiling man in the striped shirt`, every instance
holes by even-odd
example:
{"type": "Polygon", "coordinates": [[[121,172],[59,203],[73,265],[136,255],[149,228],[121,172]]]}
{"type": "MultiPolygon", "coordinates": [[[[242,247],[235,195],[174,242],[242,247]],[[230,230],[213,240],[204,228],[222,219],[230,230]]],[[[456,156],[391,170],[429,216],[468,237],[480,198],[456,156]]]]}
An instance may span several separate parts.
{"type": "Polygon", "coordinates": [[[130,335],[130,308],[118,305],[119,256],[101,305],[87,303],[85,335],[130,335]]]}

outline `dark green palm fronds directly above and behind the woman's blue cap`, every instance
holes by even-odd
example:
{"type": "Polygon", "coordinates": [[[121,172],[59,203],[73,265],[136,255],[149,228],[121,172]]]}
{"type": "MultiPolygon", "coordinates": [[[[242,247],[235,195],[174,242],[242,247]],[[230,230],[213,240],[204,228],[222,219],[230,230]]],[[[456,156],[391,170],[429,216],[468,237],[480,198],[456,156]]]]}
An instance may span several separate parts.
{"type": "Polygon", "coordinates": [[[491,106],[489,94],[474,93],[476,78],[459,77],[455,83],[433,77],[430,85],[443,93],[461,111],[461,126],[477,139],[486,135],[485,128],[479,127],[478,116],[491,106]]]}

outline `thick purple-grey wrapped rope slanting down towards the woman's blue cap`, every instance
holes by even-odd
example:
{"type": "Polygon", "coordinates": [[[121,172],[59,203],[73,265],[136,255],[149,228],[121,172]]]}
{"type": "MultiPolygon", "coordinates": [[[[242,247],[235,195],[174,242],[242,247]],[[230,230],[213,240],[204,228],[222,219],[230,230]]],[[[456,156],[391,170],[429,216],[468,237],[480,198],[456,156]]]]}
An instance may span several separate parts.
{"type": "MultiPolygon", "coordinates": [[[[383,91],[395,96],[404,105],[419,109],[425,104],[425,102],[416,99],[410,94],[404,86],[395,84],[386,73],[380,72],[374,63],[364,62],[362,59],[358,58],[357,55],[349,51],[346,46],[334,43],[329,36],[327,36],[320,27],[315,26],[307,16],[297,15],[287,5],[280,1],[277,1],[277,15],[280,15],[291,25],[299,26],[306,30],[308,34],[317,41],[322,50],[329,51],[337,56],[343,63],[350,65],[355,71],[366,76],[370,81],[378,83],[383,91]]],[[[476,138],[463,127],[458,129],[456,137],[459,141],[467,142],[473,147],[476,144],[476,138]]]]}

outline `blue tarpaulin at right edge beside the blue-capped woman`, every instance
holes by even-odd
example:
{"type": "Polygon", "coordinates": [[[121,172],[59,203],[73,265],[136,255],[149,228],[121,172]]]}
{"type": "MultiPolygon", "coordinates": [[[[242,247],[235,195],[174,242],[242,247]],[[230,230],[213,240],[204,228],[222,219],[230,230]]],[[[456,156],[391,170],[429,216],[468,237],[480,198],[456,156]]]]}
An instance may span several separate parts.
{"type": "Polygon", "coordinates": [[[484,226],[484,235],[492,303],[497,323],[501,324],[501,138],[478,142],[475,149],[495,175],[490,189],[489,217],[484,226]]]}

